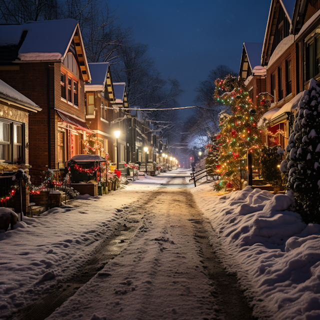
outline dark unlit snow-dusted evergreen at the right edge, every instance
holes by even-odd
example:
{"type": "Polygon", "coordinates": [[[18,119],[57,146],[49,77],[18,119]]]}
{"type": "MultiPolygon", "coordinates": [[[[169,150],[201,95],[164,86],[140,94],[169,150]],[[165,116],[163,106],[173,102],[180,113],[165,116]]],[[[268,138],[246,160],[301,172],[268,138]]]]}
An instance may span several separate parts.
{"type": "Polygon", "coordinates": [[[293,132],[280,170],[288,174],[288,194],[304,222],[320,222],[320,87],[311,79],[298,104],[293,132]]]}

